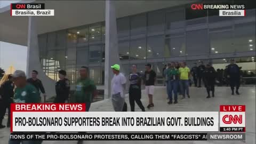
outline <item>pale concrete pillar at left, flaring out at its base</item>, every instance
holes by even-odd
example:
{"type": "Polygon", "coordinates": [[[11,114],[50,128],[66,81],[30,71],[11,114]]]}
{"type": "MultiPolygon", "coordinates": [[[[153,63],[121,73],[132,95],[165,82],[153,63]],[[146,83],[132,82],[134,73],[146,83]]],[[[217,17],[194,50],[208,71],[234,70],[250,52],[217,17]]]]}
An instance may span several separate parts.
{"type": "Polygon", "coordinates": [[[32,70],[38,71],[38,78],[41,79],[47,97],[55,95],[55,81],[45,75],[39,60],[39,47],[35,17],[28,19],[28,52],[27,52],[27,78],[31,77],[32,70]]]}

